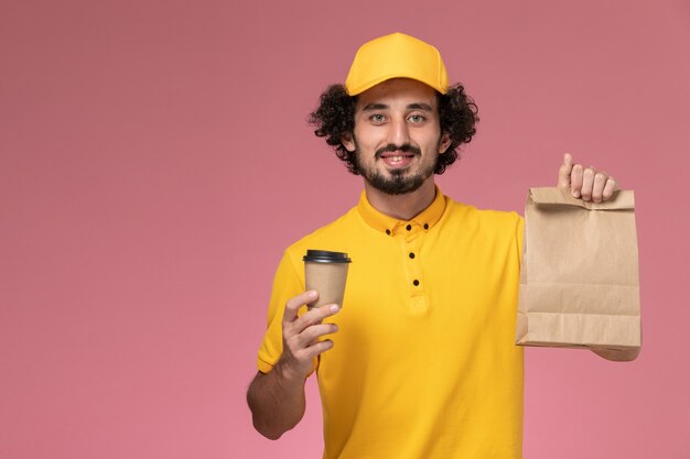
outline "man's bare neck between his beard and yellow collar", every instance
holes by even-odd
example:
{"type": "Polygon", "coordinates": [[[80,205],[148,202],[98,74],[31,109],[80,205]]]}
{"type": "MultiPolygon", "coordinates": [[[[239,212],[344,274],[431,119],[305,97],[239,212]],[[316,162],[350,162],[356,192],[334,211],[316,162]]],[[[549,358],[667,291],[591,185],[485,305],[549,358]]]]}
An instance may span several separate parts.
{"type": "Polygon", "coordinates": [[[411,220],[429,207],[436,195],[433,176],[424,181],[414,192],[405,195],[387,195],[374,188],[366,179],[364,189],[371,207],[398,220],[411,220]]]}

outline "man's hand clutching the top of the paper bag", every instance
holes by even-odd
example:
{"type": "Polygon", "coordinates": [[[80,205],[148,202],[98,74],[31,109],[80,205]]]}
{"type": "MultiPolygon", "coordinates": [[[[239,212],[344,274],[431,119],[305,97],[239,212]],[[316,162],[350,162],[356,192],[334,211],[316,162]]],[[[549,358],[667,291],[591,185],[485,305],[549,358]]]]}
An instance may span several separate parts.
{"type": "Polygon", "coordinates": [[[563,155],[563,164],[558,172],[558,186],[570,188],[570,193],[582,200],[601,203],[613,196],[618,189],[616,181],[605,172],[592,166],[575,164],[570,153],[563,155]]]}

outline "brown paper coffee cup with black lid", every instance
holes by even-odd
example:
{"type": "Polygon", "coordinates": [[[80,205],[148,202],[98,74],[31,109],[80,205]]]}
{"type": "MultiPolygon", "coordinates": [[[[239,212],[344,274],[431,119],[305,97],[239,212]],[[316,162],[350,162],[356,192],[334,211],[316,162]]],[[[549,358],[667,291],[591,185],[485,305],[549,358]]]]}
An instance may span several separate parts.
{"type": "Polygon", "coordinates": [[[304,260],[306,289],[319,292],[319,299],[308,307],[337,304],[343,307],[347,270],[352,260],[347,253],[327,250],[308,250],[304,260]]]}

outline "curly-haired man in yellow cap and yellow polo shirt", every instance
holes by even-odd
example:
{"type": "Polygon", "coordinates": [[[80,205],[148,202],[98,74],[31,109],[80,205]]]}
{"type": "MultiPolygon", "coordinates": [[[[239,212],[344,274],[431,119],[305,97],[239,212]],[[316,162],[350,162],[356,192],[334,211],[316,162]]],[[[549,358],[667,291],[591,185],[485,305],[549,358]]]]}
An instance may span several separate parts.
{"type": "MultiPolygon", "coordinates": [[[[363,45],[345,86],[322,95],[315,132],[364,177],[364,193],[278,267],[247,395],[262,435],[279,438],[300,422],[316,371],[325,458],[521,457],[522,220],[453,201],[434,183],[476,119],[439,52],[400,33],[363,45]],[[352,258],[342,312],[303,308],[317,297],[303,292],[306,249],[352,258]]],[[[559,185],[594,201],[616,188],[570,155],[559,185]]]]}

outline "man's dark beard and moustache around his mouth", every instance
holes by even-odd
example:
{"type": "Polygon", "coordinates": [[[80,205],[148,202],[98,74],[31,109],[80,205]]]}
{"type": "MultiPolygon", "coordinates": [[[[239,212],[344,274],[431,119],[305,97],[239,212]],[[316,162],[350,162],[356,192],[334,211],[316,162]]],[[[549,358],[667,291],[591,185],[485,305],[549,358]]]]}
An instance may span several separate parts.
{"type": "MultiPolygon", "coordinates": [[[[376,159],[379,161],[380,155],[387,151],[402,151],[402,152],[413,152],[416,155],[421,155],[421,151],[411,146],[410,144],[406,144],[402,146],[396,145],[386,145],[382,149],[376,151],[376,159]]],[[[439,156],[436,155],[433,163],[425,166],[423,170],[419,171],[416,174],[409,174],[408,171],[393,170],[390,171],[390,176],[385,176],[375,167],[367,167],[364,165],[359,157],[359,147],[355,142],[355,161],[359,174],[371,185],[375,189],[378,189],[381,193],[387,195],[405,195],[407,193],[412,193],[419,189],[420,186],[424,183],[424,181],[431,177],[436,168],[436,164],[439,163],[439,156]]]]}

